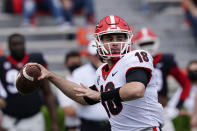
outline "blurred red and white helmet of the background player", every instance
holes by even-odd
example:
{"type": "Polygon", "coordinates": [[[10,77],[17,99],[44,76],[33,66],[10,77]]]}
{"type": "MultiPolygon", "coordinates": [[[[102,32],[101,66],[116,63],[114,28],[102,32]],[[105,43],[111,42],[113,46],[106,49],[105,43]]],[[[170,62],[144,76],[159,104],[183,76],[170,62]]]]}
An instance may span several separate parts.
{"type": "Polygon", "coordinates": [[[148,28],[140,29],[134,37],[134,47],[147,50],[152,56],[158,52],[159,45],[158,37],[148,28]]]}

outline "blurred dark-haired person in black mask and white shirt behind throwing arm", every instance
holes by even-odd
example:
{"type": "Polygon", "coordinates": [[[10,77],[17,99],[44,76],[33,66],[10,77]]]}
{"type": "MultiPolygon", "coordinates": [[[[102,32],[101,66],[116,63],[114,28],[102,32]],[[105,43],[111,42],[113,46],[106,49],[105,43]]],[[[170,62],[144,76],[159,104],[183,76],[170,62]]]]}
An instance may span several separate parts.
{"type": "MultiPolygon", "coordinates": [[[[65,67],[68,69],[69,74],[66,79],[73,81],[72,73],[75,69],[82,65],[82,58],[77,51],[70,51],[65,56],[65,67]]],[[[67,131],[77,131],[80,127],[80,119],[77,116],[78,104],[65,96],[59,89],[57,89],[57,98],[60,107],[63,108],[65,113],[65,126],[67,131]]]]}

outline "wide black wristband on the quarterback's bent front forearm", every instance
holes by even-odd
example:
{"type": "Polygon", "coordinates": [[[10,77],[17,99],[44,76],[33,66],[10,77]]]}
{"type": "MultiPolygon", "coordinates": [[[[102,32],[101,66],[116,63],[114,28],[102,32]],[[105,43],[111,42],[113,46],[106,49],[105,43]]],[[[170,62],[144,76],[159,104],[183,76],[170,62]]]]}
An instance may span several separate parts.
{"type": "Polygon", "coordinates": [[[101,93],[101,101],[111,101],[111,100],[119,100],[122,101],[119,94],[119,88],[116,88],[111,91],[106,91],[101,93]]]}

